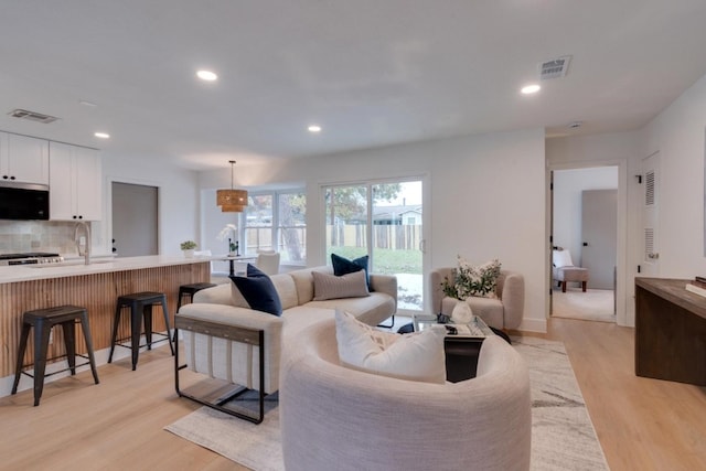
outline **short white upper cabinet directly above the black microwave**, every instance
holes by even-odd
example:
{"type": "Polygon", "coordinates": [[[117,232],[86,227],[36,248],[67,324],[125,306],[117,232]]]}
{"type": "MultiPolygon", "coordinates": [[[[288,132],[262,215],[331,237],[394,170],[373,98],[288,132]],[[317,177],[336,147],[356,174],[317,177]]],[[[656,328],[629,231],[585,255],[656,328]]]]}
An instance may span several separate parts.
{"type": "Polygon", "coordinates": [[[0,132],[0,181],[49,184],[49,141],[0,132]]]}

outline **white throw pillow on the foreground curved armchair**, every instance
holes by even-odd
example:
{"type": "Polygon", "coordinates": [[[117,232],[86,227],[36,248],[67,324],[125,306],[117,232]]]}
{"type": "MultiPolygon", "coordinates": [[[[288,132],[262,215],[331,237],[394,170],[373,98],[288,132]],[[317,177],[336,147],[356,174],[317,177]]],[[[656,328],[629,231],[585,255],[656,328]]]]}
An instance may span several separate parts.
{"type": "Polygon", "coordinates": [[[335,311],[335,338],[343,365],[402,379],[443,384],[446,356],[443,327],[422,332],[398,334],[382,332],[335,311]]]}

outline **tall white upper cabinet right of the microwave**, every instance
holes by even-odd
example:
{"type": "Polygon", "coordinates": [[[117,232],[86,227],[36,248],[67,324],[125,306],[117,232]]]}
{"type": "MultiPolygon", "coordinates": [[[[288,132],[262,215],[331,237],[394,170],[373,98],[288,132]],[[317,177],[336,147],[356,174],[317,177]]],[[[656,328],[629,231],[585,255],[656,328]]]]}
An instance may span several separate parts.
{"type": "Polygon", "coordinates": [[[100,221],[103,189],[97,150],[50,143],[50,220],[100,221]]]}

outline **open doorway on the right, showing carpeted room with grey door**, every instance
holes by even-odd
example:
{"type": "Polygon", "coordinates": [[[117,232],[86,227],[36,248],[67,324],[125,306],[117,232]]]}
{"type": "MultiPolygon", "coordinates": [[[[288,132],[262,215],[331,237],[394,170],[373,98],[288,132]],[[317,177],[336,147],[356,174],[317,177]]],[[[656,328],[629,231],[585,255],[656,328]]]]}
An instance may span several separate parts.
{"type": "Polygon", "coordinates": [[[613,165],[553,172],[553,317],[616,322],[618,186],[613,165]],[[571,265],[581,276],[564,276],[571,265]]]}

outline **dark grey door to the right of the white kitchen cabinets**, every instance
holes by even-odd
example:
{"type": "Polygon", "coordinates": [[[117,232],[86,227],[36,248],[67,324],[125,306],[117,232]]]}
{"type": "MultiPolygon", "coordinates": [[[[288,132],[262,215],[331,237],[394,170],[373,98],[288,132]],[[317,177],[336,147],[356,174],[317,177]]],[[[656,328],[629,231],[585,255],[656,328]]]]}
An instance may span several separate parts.
{"type": "Polygon", "coordinates": [[[113,182],[113,247],[118,257],[158,255],[158,189],[113,182]]]}

